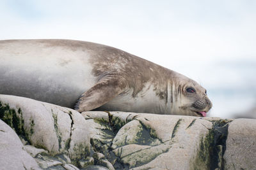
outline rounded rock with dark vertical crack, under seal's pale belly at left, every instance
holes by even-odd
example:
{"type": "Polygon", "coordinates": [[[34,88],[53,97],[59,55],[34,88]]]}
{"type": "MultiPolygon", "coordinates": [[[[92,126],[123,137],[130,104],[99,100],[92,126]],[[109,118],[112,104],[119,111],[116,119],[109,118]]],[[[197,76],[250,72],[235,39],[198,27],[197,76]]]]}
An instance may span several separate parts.
{"type": "Polygon", "coordinates": [[[75,110],[25,97],[0,95],[0,118],[27,144],[50,156],[67,154],[72,162],[90,154],[88,129],[75,110]]]}

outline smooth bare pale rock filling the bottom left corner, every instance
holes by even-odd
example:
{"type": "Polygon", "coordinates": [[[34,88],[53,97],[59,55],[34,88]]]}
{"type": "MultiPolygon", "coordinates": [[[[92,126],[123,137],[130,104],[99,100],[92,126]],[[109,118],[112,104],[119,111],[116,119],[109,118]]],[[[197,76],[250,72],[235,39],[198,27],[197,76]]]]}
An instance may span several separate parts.
{"type": "Polygon", "coordinates": [[[19,136],[0,120],[1,169],[40,169],[33,157],[22,147],[19,136]]]}

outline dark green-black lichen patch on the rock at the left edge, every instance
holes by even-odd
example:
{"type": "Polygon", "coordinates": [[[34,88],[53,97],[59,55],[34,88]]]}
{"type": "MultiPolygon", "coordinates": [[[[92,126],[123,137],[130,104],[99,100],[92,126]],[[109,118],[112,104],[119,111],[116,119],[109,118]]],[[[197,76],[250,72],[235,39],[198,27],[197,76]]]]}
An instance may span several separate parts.
{"type": "Polygon", "coordinates": [[[35,123],[31,120],[31,129],[29,134],[24,129],[24,118],[22,117],[22,111],[20,108],[16,112],[13,108],[10,108],[9,104],[3,104],[0,102],[0,119],[12,127],[20,138],[29,142],[29,137],[33,134],[33,126],[35,123]]]}

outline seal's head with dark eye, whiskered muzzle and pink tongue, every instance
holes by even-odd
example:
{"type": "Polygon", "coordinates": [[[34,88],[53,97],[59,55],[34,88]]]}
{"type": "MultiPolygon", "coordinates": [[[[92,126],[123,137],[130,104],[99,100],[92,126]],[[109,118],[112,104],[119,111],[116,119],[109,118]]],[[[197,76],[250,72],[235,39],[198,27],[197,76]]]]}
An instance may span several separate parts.
{"type": "Polygon", "coordinates": [[[175,85],[177,103],[173,103],[175,112],[182,111],[182,115],[206,117],[212,108],[212,103],[207,97],[207,91],[196,81],[182,78],[175,85]]]}

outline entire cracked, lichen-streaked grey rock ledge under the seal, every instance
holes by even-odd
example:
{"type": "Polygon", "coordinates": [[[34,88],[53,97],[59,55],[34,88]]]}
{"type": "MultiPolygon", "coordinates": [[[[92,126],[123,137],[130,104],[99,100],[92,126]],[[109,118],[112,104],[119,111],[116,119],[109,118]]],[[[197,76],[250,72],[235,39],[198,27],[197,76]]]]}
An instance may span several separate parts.
{"type": "Polygon", "coordinates": [[[117,111],[78,113],[6,95],[0,95],[0,118],[3,169],[255,168],[246,165],[255,161],[255,143],[250,143],[255,136],[243,133],[248,128],[255,132],[254,120],[117,111]],[[244,138],[248,140],[243,148],[244,138]],[[233,145],[232,140],[238,144],[233,145]],[[251,154],[243,158],[247,161],[243,166],[238,161],[241,152],[251,154]]]}

